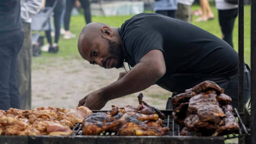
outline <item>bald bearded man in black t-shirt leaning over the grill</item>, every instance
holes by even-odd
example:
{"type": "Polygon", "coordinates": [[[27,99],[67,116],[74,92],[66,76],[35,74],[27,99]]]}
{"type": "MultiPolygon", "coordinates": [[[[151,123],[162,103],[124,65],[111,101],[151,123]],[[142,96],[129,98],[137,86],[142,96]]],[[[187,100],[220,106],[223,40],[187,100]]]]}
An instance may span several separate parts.
{"type": "MultiPolygon", "coordinates": [[[[90,64],[121,68],[127,62],[133,67],[121,72],[117,81],[86,95],[78,106],[99,110],[109,100],[153,84],[177,94],[205,80],[223,87],[233,100],[231,104],[238,105],[237,52],[225,41],[187,22],[142,13],[125,21],[121,28],[90,23],[80,33],[78,50],[90,64]]],[[[246,67],[244,71],[246,103],[250,75],[246,67]]]]}

